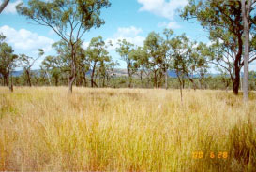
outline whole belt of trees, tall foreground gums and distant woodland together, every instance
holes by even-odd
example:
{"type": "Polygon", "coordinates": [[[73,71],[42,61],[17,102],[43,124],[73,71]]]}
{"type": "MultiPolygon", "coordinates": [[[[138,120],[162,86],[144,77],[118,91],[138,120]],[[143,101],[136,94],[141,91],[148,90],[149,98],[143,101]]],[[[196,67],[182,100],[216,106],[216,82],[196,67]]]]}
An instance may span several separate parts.
{"type": "MultiPolygon", "coordinates": [[[[253,2],[254,4],[255,2],[253,2]]],[[[244,6],[244,4],[242,4],[244,6]]],[[[19,14],[29,20],[53,28],[61,40],[53,44],[54,56],[44,57],[40,74],[33,75],[31,67],[44,55],[39,49],[38,57],[13,54],[12,48],[1,35],[1,83],[13,90],[16,85],[68,85],[72,93],[73,84],[90,87],[143,87],[143,88],[192,88],[233,89],[238,94],[241,87],[241,69],[245,65],[245,49],[248,63],[256,59],[255,15],[248,9],[250,25],[245,30],[240,1],[189,1],[180,16],[184,20],[196,19],[209,32],[210,43],[193,41],[185,34],[175,35],[173,30],[162,33],[151,32],[143,46],[135,46],[126,39],[117,45],[105,42],[102,36],[91,39],[83,48],[82,36],[91,28],[99,28],[100,9],[110,7],[108,0],[41,2],[29,1],[18,5],[19,14]],[[71,22],[72,21],[72,22],[71,22]],[[249,47],[244,33],[250,33],[249,47]],[[67,34],[69,33],[69,34],[67,34]],[[113,75],[118,63],[113,61],[108,48],[115,51],[127,65],[127,77],[113,75]],[[215,65],[220,75],[209,76],[209,66],[215,65]],[[23,67],[23,76],[11,77],[12,71],[23,67]],[[174,71],[176,78],[169,78],[168,71],[174,71]],[[89,76],[86,74],[89,73],[89,76]],[[192,76],[198,76],[194,78],[192,76]]],[[[248,73],[248,72],[247,72],[248,73]]],[[[245,73],[247,76],[248,74],[245,73]]],[[[255,89],[255,72],[249,73],[249,89],[255,89]]]]}

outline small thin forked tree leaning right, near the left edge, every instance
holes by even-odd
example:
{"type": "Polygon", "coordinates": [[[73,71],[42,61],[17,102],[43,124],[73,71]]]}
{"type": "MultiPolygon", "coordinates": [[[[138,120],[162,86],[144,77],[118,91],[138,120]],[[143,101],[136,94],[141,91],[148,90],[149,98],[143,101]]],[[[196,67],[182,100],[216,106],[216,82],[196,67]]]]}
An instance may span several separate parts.
{"type": "Polygon", "coordinates": [[[21,54],[19,56],[19,65],[23,67],[23,73],[25,74],[26,78],[26,84],[31,87],[31,67],[35,64],[35,62],[40,58],[43,54],[44,51],[42,49],[39,49],[39,54],[37,58],[33,58],[30,56],[27,56],[25,54],[21,54]]]}

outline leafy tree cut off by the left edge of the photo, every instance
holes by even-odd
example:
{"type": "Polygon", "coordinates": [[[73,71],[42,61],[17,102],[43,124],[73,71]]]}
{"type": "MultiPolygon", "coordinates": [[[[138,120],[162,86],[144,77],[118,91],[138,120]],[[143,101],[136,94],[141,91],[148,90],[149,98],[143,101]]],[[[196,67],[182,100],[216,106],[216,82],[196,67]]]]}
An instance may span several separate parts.
{"type": "Polygon", "coordinates": [[[0,34],[0,74],[3,76],[4,85],[9,86],[9,90],[12,92],[12,72],[17,65],[18,56],[13,54],[14,50],[4,41],[5,38],[6,36],[0,34]],[[11,77],[10,82],[9,77],[11,77]]]}

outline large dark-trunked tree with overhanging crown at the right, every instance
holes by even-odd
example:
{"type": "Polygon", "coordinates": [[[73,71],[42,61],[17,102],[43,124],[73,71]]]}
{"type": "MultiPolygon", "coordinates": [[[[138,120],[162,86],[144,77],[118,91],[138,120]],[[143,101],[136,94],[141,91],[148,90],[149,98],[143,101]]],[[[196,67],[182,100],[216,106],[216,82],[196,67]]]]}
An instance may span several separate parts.
{"type": "MultiPolygon", "coordinates": [[[[250,11],[254,7],[251,7],[250,11]]],[[[216,55],[212,62],[227,69],[233,82],[233,93],[238,94],[240,71],[244,66],[243,34],[245,28],[241,1],[189,0],[188,6],[184,8],[181,16],[186,20],[197,19],[203,28],[209,32],[209,38],[213,42],[218,42],[218,48],[223,53],[222,56],[216,55]]],[[[255,12],[248,15],[248,21],[250,22],[249,31],[255,34],[255,12]]],[[[255,49],[250,50],[251,52],[255,51],[255,49]]],[[[255,56],[250,56],[248,63],[255,59],[255,56]]]]}

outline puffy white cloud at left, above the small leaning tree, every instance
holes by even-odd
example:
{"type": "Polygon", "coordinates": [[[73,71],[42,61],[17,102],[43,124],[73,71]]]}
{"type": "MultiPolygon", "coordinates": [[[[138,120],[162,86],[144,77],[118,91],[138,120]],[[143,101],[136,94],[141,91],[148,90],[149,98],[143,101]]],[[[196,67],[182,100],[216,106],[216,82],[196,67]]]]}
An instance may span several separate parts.
{"type": "Polygon", "coordinates": [[[8,25],[0,27],[0,33],[7,36],[7,42],[15,50],[38,51],[43,49],[46,52],[52,50],[53,39],[46,36],[38,36],[37,33],[25,29],[15,30],[8,25]]]}

